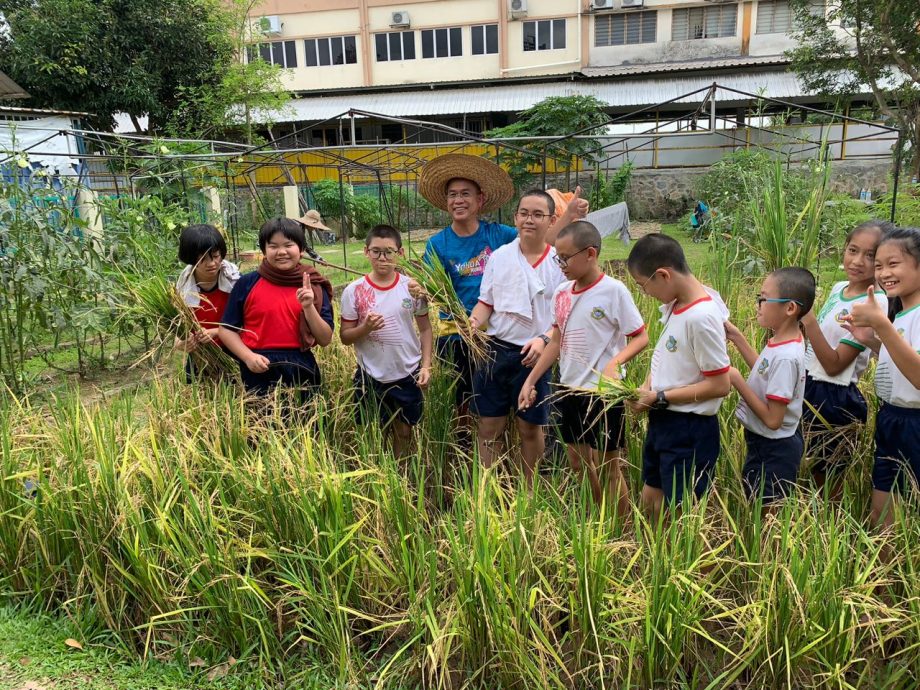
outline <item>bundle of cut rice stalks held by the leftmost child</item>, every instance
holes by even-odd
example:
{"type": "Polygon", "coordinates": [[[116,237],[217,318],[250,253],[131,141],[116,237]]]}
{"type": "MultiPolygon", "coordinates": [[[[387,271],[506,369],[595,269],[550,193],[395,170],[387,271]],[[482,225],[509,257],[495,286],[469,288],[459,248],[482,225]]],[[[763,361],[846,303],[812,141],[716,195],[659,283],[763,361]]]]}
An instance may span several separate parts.
{"type": "MultiPolygon", "coordinates": [[[[176,338],[185,340],[190,333],[201,332],[201,325],[175,285],[162,276],[132,280],[123,276],[123,285],[130,303],[122,309],[122,317],[132,321],[147,321],[156,332],[153,347],[140,361],[158,359],[164,351],[171,352],[176,338]]],[[[223,349],[201,346],[189,353],[195,371],[205,376],[236,376],[237,361],[223,349]]]]}

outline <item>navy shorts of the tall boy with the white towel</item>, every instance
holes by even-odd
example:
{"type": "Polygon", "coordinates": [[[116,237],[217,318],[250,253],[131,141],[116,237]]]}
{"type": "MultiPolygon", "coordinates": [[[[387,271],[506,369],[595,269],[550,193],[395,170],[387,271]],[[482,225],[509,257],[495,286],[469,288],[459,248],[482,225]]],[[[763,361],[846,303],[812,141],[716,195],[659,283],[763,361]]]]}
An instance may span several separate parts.
{"type": "Polygon", "coordinates": [[[498,338],[489,339],[489,355],[473,373],[473,400],[470,409],[480,417],[504,417],[514,412],[525,422],[543,426],[549,422],[549,372],[534,386],[537,398],[526,410],[519,410],[518,396],[524,381],[533,371],[521,362],[521,346],[498,338]]]}

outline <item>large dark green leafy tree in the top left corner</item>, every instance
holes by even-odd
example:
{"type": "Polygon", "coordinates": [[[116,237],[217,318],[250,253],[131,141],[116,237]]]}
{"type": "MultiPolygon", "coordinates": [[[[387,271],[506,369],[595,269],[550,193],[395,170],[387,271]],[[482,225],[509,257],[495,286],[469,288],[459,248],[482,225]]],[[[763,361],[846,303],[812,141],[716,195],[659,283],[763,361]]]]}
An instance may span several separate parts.
{"type": "Polygon", "coordinates": [[[124,112],[138,129],[147,115],[152,131],[195,134],[201,123],[228,122],[233,104],[262,107],[262,93],[280,88],[277,70],[240,64],[251,4],[0,0],[8,23],[0,70],[32,95],[30,105],[89,112],[100,129],[124,112]]]}

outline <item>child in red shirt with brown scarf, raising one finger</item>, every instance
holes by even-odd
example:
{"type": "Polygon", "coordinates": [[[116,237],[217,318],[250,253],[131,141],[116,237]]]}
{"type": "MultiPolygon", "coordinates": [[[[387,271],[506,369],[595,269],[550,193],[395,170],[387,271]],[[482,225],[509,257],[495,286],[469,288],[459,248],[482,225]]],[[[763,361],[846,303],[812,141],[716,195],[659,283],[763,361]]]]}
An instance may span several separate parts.
{"type": "Polygon", "coordinates": [[[240,360],[251,393],[266,395],[283,385],[299,389],[304,401],[319,387],[311,350],[332,341],[332,285],[300,263],[306,245],[297,221],[267,221],[259,230],[265,258],[230,293],[220,339],[240,360]]]}

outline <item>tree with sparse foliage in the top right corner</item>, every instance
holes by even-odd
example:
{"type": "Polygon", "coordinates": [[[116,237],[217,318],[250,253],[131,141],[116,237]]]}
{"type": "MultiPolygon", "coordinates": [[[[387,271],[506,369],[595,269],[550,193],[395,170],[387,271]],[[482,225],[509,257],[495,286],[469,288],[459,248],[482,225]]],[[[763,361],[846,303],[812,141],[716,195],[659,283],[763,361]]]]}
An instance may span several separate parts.
{"type": "Polygon", "coordinates": [[[912,170],[920,173],[920,2],[830,0],[826,12],[814,8],[814,0],[793,0],[792,69],[807,89],[832,98],[868,87],[903,132],[912,170]]]}

